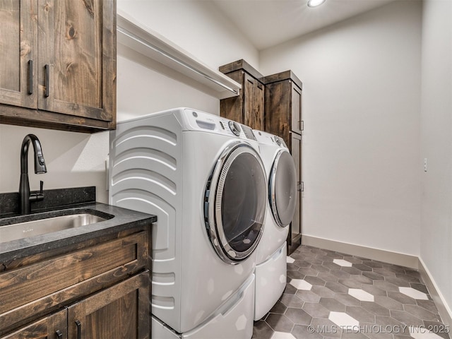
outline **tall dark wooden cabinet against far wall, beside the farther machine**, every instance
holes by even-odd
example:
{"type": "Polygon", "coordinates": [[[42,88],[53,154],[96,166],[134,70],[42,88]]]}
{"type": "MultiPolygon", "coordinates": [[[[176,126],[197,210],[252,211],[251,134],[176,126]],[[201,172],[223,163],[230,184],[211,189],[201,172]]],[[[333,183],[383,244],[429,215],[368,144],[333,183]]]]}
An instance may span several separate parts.
{"type": "Polygon", "coordinates": [[[297,208],[287,238],[288,254],[302,242],[302,82],[292,71],[263,78],[266,85],[264,131],[281,136],[297,167],[297,208]]]}

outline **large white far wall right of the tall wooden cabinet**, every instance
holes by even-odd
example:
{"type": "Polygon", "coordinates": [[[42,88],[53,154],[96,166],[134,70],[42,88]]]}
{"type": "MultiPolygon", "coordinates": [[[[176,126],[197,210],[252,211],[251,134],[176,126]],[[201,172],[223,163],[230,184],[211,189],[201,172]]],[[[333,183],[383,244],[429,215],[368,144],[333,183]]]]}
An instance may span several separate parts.
{"type": "Polygon", "coordinates": [[[261,51],[304,82],[302,233],[419,254],[419,1],[261,51]]]}

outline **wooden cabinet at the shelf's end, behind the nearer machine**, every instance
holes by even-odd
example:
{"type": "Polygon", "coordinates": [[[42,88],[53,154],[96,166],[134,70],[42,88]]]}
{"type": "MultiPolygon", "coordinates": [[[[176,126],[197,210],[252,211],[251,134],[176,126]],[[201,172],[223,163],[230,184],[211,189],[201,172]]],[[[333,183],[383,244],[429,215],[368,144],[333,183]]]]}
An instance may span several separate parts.
{"type": "Polygon", "coordinates": [[[243,59],[220,66],[220,72],[242,85],[240,95],[220,100],[220,115],[263,131],[265,86],[261,73],[243,59]]]}

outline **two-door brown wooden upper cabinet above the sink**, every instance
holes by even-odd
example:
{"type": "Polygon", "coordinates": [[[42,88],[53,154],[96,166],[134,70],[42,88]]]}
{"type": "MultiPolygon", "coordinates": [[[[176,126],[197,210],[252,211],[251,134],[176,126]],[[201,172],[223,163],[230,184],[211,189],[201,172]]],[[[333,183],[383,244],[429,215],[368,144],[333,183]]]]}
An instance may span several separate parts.
{"type": "Polygon", "coordinates": [[[115,0],[5,0],[0,20],[0,123],[115,128],[115,0]]]}

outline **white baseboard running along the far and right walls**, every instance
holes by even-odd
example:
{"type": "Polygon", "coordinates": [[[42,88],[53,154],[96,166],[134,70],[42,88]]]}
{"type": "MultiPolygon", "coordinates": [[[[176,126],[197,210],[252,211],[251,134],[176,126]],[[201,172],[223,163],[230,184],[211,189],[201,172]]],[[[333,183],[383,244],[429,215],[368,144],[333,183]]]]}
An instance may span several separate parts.
{"type": "Polygon", "coordinates": [[[452,327],[452,311],[448,307],[443,295],[436,285],[432,275],[430,274],[424,261],[417,256],[410,256],[398,252],[386,251],[383,249],[373,249],[371,247],[360,246],[355,244],[348,244],[346,242],[336,242],[330,239],[323,239],[318,237],[310,237],[309,235],[302,235],[302,244],[307,246],[319,247],[321,249],[329,249],[330,251],[338,251],[345,254],[352,254],[353,256],[361,256],[373,260],[383,261],[385,263],[393,263],[394,265],[415,268],[419,270],[422,280],[424,280],[429,294],[438,308],[439,316],[444,325],[449,328],[452,327]]]}

